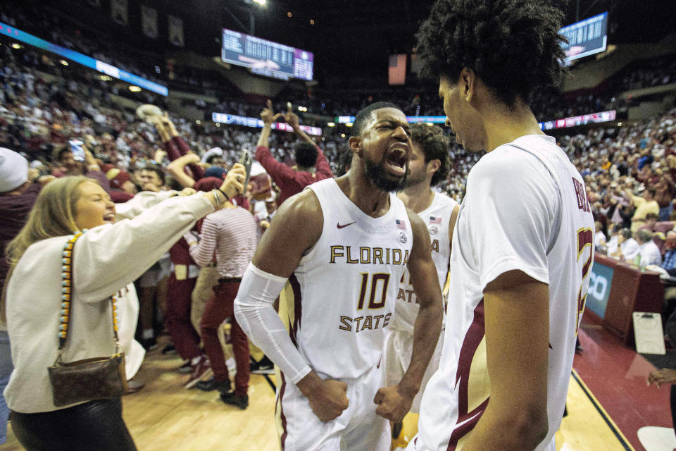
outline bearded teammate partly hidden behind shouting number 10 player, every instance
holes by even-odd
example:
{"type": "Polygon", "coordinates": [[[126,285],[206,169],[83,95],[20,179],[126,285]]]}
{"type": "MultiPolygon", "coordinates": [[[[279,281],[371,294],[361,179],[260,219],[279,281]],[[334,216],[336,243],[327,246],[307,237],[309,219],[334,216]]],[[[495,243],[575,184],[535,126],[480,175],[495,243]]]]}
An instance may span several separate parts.
{"type": "MultiPolygon", "coordinates": [[[[406,188],[397,194],[404,205],[420,216],[430,233],[432,242],[432,260],[437,267],[439,287],[444,287],[449,273],[451,257],[451,237],[453,226],[460,206],[458,202],[440,192],[433,191],[432,185],[445,180],[449,173],[449,138],[438,125],[432,127],[417,123],[411,125],[411,159],[408,161],[408,180],[406,188]]],[[[408,273],[405,273],[396,295],[396,306],[392,321],[385,335],[383,362],[385,384],[392,385],[401,380],[404,371],[411,362],[413,347],[413,326],[418,316],[418,297],[415,295],[408,273]]],[[[445,310],[445,308],[444,308],[445,310]]],[[[444,330],[442,321],[442,332],[444,330]]],[[[439,367],[442,340],[437,343],[434,355],[427,366],[420,392],[415,396],[411,412],[420,410],[420,397],[425,385],[439,367]]],[[[401,424],[392,427],[392,438],[397,438],[401,424]]]]}

